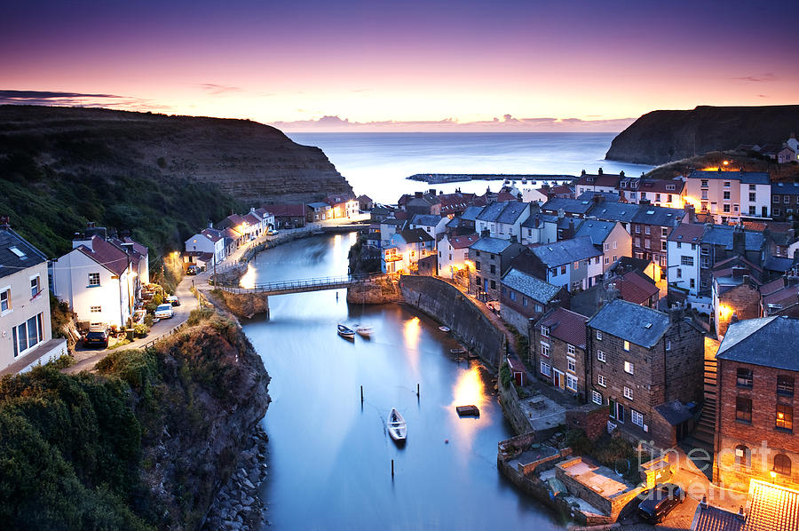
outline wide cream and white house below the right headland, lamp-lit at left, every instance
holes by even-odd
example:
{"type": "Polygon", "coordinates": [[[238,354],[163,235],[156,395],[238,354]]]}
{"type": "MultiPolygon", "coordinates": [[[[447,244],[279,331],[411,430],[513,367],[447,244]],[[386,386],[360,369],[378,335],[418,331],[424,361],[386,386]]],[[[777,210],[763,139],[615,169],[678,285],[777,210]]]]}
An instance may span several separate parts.
{"type": "Polygon", "coordinates": [[[711,214],[717,224],[738,223],[741,217],[770,216],[771,181],[758,171],[700,171],[686,178],[685,201],[711,214]]]}

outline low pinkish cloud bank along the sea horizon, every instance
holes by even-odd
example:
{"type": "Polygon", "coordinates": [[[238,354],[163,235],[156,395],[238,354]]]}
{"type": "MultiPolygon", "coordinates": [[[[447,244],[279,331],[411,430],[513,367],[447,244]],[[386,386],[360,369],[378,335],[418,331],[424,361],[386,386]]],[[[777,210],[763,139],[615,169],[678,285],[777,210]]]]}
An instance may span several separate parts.
{"type": "Polygon", "coordinates": [[[503,115],[502,119],[460,122],[456,118],[444,118],[430,121],[396,121],[384,120],[379,122],[352,122],[348,118],[337,115],[324,115],[315,120],[298,120],[297,122],[273,122],[272,125],[282,131],[509,131],[509,132],[537,132],[537,131],[596,131],[616,132],[622,131],[635,118],[620,118],[613,120],[582,120],[580,118],[514,118],[513,115],[503,115]]]}

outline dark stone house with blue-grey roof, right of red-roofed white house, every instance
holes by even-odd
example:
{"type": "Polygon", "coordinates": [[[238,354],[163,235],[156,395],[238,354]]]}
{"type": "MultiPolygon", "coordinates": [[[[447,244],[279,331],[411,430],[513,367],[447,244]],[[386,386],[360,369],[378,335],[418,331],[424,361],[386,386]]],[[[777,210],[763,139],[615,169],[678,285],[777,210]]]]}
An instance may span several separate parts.
{"type": "Polygon", "coordinates": [[[487,300],[499,300],[500,279],[508,271],[510,262],[526,248],[517,242],[480,236],[469,248],[470,291],[487,300]]]}

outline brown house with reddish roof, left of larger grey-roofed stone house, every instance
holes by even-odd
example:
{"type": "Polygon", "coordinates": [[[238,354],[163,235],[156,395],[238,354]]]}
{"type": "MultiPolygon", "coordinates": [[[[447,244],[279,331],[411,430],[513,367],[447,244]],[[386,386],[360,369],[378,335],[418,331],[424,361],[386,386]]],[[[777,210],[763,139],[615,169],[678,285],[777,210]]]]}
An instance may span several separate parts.
{"type": "Polygon", "coordinates": [[[531,327],[530,362],[538,379],[588,400],[590,361],[586,351],[588,318],[555,307],[531,327]]]}

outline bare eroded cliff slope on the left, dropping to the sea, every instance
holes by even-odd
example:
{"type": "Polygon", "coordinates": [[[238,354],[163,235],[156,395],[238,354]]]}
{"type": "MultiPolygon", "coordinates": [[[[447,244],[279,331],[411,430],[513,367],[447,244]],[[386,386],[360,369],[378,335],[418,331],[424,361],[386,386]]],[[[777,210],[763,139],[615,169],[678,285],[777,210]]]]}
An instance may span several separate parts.
{"type": "Polygon", "coordinates": [[[352,191],[320,148],[249,120],[0,106],[0,134],[23,139],[23,149],[30,139],[41,140],[47,149],[40,160],[59,170],[88,166],[213,182],[251,205],[352,191]]]}

